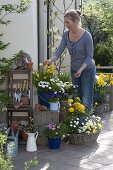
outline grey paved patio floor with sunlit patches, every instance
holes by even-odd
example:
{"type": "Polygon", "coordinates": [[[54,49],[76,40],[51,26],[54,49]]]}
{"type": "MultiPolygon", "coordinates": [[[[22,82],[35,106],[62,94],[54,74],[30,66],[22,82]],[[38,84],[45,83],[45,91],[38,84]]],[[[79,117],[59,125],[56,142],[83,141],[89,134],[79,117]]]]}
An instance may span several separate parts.
{"type": "Polygon", "coordinates": [[[24,170],[24,161],[37,156],[38,167],[30,170],[113,170],[113,112],[102,115],[104,128],[97,143],[74,146],[62,143],[59,150],[38,146],[37,152],[26,152],[25,145],[13,158],[14,170],[24,170]]]}

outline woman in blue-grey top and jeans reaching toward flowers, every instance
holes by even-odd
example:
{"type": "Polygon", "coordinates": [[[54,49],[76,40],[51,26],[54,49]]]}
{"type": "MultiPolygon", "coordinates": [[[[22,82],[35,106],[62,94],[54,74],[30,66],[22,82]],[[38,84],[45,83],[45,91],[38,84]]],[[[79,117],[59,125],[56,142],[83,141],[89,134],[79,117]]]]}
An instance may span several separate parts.
{"type": "Polygon", "coordinates": [[[68,48],[71,56],[73,85],[77,87],[79,97],[90,112],[93,108],[93,87],[96,74],[92,36],[81,27],[79,11],[68,11],[64,16],[64,24],[68,30],[64,32],[58,49],[48,62],[51,64],[57,60],[65,47],[68,48]]]}

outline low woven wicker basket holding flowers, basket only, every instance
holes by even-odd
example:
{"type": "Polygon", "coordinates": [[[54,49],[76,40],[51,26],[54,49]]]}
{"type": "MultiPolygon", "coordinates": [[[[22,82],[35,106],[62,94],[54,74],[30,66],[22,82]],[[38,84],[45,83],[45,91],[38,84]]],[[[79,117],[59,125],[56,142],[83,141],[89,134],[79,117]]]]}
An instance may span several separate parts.
{"type": "Polygon", "coordinates": [[[74,145],[85,145],[96,142],[100,132],[91,134],[71,134],[69,136],[69,143],[74,145]]]}

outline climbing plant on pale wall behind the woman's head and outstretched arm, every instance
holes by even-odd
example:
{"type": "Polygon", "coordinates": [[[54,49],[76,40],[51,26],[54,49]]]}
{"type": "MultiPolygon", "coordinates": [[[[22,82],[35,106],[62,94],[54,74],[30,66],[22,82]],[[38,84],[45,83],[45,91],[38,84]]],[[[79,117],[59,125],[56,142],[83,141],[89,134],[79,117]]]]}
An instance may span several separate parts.
{"type": "MultiPolygon", "coordinates": [[[[46,0],[46,5],[48,7],[48,13],[49,13],[49,28],[47,30],[47,36],[49,37],[48,42],[48,50],[49,54],[52,55],[55,49],[58,46],[59,41],[61,40],[62,34],[65,30],[64,26],[64,15],[67,10],[72,8],[72,5],[74,6],[75,0],[62,0],[61,3],[61,9],[59,8],[59,4],[57,0],[46,0]],[[57,23],[57,24],[56,24],[57,23]]],[[[73,7],[74,8],[74,7],[73,7]]],[[[58,72],[60,72],[61,68],[66,68],[69,65],[64,65],[64,58],[67,55],[67,50],[64,51],[62,56],[59,58],[58,62],[55,64],[57,65],[58,72]]]]}

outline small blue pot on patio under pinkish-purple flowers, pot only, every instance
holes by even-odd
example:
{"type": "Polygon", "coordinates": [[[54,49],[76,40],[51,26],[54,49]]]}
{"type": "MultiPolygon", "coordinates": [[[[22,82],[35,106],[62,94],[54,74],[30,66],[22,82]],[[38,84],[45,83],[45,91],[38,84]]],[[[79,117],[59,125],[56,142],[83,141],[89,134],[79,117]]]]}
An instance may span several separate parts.
{"type": "Polygon", "coordinates": [[[48,145],[50,149],[59,149],[61,144],[61,138],[48,138],[48,145]]]}

